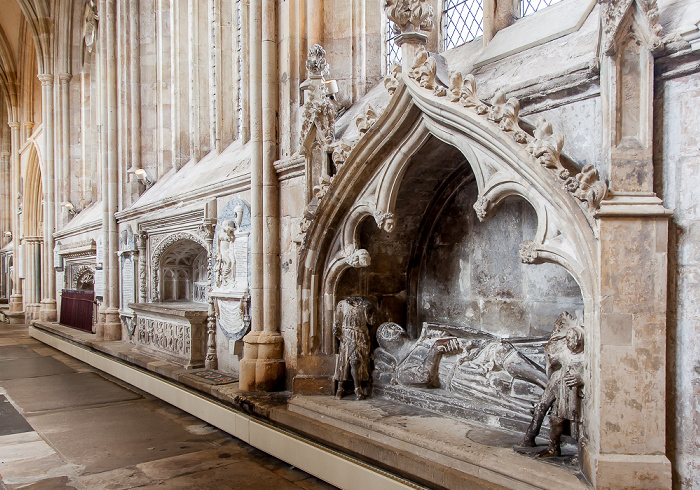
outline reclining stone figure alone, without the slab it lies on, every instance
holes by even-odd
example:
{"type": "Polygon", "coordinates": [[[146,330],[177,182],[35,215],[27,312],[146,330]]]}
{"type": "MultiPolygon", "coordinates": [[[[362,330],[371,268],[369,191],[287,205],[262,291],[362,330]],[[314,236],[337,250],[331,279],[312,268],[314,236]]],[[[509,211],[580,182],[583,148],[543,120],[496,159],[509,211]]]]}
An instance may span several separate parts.
{"type": "Polygon", "coordinates": [[[494,386],[500,373],[541,388],[547,384],[537,363],[498,338],[458,338],[424,324],[421,336],[411,340],[403,327],[387,322],[377,329],[377,342],[375,378],[388,384],[443,388],[458,396],[476,391],[501,397],[507,395],[494,386]],[[443,360],[444,356],[451,358],[443,360]]]}

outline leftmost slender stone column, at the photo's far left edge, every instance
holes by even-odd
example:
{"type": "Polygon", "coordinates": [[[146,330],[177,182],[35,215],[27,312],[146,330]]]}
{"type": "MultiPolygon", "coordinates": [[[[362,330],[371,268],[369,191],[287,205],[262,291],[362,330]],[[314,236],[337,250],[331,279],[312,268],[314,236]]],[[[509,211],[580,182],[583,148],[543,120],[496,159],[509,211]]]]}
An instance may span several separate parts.
{"type": "Polygon", "coordinates": [[[20,193],[21,168],[19,163],[20,123],[11,121],[10,125],[10,203],[12,213],[12,240],[14,251],[12,252],[12,293],[10,294],[10,321],[24,322],[24,305],[22,303],[22,284],[20,282],[20,264],[22,261],[22,247],[20,246],[20,226],[18,214],[18,196],[20,193]]]}

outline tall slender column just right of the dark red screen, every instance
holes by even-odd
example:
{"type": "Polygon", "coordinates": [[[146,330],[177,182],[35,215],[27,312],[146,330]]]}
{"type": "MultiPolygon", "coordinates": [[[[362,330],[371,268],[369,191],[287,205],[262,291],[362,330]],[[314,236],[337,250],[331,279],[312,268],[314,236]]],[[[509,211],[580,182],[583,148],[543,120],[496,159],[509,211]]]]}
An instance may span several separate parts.
{"type": "MultiPolygon", "coordinates": [[[[115,213],[119,199],[119,162],[117,161],[117,5],[115,0],[106,0],[104,23],[106,36],[103,52],[106,54],[106,98],[107,98],[107,168],[104,179],[107,181],[106,200],[107,240],[105,241],[105,324],[103,335],[105,340],[119,340],[122,334],[122,324],[119,319],[119,229],[115,213]]],[[[104,187],[103,187],[104,188],[104,187]]]]}

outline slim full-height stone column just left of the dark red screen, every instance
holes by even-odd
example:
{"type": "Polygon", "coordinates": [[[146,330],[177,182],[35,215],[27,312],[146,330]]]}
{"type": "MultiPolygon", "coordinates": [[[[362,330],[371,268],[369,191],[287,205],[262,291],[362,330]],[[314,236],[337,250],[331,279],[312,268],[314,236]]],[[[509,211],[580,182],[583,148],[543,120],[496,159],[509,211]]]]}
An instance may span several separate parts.
{"type": "Polygon", "coordinates": [[[44,126],[44,168],[42,172],[44,183],[44,260],[43,277],[46,288],[41,300],[40,319],[44,322],[55,322],[56,315],[56,274],[53,269],[53,234],[56,231],[56,168],[54,148],[54,110],[53,85],[54,76],[50,73],[39,75],[42,88],[42,125],[44,126]]]}

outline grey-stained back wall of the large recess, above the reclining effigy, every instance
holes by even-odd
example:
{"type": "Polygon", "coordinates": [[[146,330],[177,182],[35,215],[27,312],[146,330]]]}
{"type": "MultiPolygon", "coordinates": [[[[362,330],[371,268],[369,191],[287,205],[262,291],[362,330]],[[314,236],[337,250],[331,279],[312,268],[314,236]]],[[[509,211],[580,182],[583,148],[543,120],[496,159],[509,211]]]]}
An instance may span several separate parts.
{"type": "Polygon", "coordinates": [[[520,243],[537,228],[532,207],[510,201],[480,223],[472,208],[476,198],[476,184],[463,187],[436,223],[421,264],[419,324],[537,337],[551,332],[562,311],[582,310],[579,287],[563,268],[520,261],[520,243]]]}

